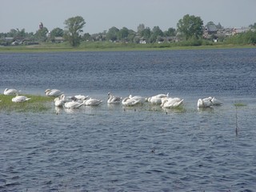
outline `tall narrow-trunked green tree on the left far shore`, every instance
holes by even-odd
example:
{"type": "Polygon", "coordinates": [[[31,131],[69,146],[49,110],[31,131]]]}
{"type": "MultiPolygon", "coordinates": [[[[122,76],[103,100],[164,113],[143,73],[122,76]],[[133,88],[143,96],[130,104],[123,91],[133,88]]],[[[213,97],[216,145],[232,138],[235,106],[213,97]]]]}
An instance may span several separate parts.
{"type": "Polygon", "coordinates": [[[78,46],[82,39],[81,33],[86,24],[85,20],[81,16],[76,16],[66,19],[64,24],[66,25],[64,38],[70,42],[71,46],[78,46]]]}

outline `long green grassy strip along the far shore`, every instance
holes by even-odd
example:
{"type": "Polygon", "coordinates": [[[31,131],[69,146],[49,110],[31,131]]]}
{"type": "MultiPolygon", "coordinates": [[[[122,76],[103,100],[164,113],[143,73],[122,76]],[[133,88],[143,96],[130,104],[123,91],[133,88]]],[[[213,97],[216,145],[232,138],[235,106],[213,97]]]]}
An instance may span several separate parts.
{"type": "Polygon", "coordinates": [[[122,42],[82,42],[78,47],[72,47],[67,42],[42,43],[31,46],[0,46],[0,53],[33,53],[33,52],[63,52],[63,51],[126,51],[126,50],[208,50],[255,48],[253,45],[232,45],[212,43],[203,46],[184,46],[182,43],[122,43],[122,42]]]}

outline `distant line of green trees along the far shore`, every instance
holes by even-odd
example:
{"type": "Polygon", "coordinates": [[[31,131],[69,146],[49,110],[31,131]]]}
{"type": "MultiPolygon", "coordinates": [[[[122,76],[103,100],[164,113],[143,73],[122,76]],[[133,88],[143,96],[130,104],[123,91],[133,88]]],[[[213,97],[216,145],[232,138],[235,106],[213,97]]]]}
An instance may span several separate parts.
{"type": "MultiPolygon", "coordinates": [[[[202,34],[204,30],[203,21],[200,17],[186,14],[178,20],[177,29],[170,27],[166,31],[162,31],[159,26],[152,29],[139,24],[137,31],[129,30],[126,27],[118,29],[113,26],[109,30],[105,30],[98,34],[83,33],[83,27],[86,22],[81,16],[68,18],[64,22],[64,30],[54,28],[49,31],[45,26],[40,27],[36,33],[27,33],[25,29],[12,29],[8,33],[0,33],[0,44],[8,45],[4,39],[13,39],[19,42],[57,42],[59,39],[69,42],[71,46],[79,46],[82,41],[107,41],[107,42],[125,42],[125,43],[155,43],[155,42],[184,42],[184,45],[198,46],[202,45],[202,34]]],[[[214,24],[208,22],[207,24],[214,24]]],[[[222,29],[220,23],[216,25],[218,29],[222,29]]],[[[249,26],[256,29],[256,23],[249,26]]],[[[232,36],[226,40],[229,43],[256,43],[256,32],[248,31],[244,34],[232,36]]],[[[13,42],[12,42],[13,43],[13,42]]]]}

